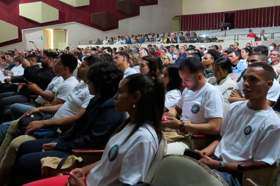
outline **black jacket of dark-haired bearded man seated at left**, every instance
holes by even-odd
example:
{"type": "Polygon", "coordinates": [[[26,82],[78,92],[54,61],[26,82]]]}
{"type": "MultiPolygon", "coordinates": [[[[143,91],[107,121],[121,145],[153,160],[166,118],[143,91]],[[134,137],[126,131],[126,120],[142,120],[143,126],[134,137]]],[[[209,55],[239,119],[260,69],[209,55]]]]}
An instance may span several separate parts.
{"type": "MultiPolygon", "coordinates": [[[[41,68],[36,72],[34,72],[31,67],[26,67],[23,75],[27,81],[37,84],[42,90],[45,90],[48,84],[56,76],[52,67],[41,68]]],[[[26,96],[36,95],[34,92],[30,92],[26,85],[21,87],[20,93],[26,96]]]]}

